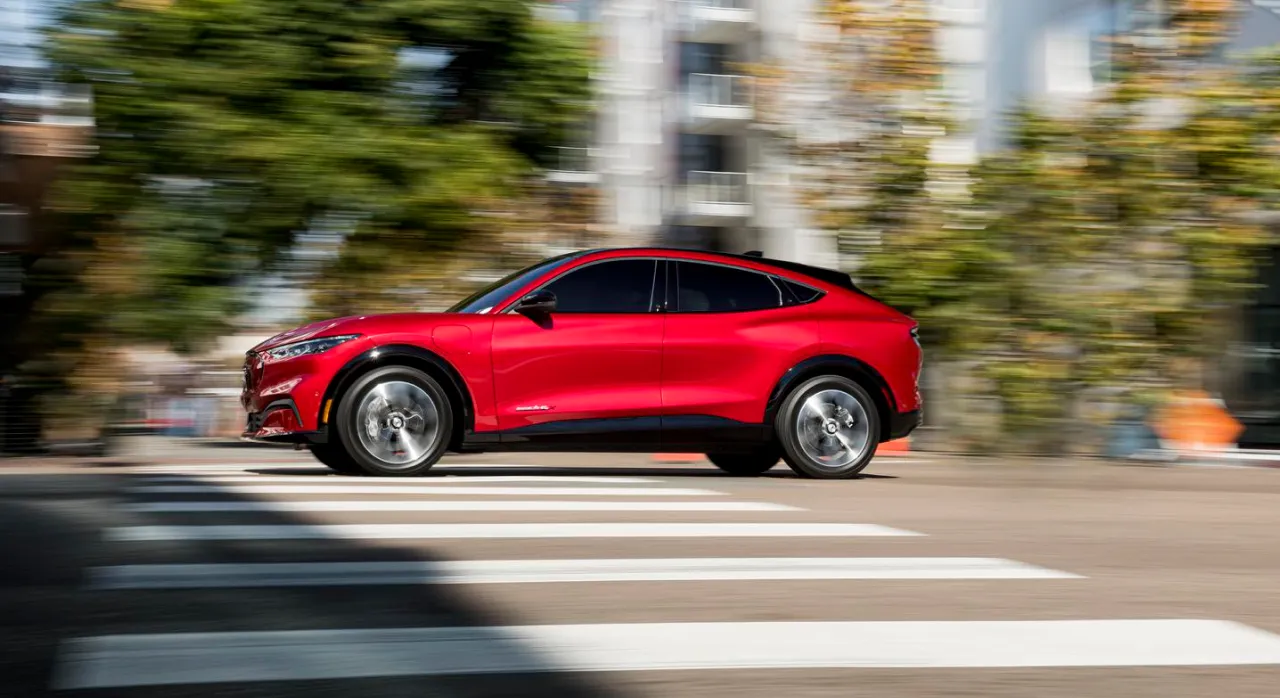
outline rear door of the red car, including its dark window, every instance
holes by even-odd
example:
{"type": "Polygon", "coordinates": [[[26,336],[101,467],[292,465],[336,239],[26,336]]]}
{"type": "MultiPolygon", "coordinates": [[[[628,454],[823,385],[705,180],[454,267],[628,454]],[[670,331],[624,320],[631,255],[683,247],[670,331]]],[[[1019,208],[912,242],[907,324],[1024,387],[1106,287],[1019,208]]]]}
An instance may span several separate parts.
{"type": "Polygon", "coordinates": [[[769,392],[818,346],[809,309],[781,280],[709,261],[667,263],[663,439],[759,434],[769,392]]]}

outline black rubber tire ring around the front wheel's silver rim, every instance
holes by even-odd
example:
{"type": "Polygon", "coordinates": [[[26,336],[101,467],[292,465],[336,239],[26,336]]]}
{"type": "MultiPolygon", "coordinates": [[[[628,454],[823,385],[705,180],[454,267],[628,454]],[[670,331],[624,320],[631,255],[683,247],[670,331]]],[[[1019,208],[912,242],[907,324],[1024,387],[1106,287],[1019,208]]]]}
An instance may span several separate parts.
{"type": "Polygon", "coordinates": [[[343,450],[362,471],[375,476],[408,478],[430,470],[449,447],[449,434],[453,433],[453,406],[449,403],[449,397],[444,393],[444,388],[430,375],[408,366],[384,366],[361,375],[343,392],[338,400],[338,420],[334,428],[343,450]],[[388,380],[404,380],[422,388],[431,401],[435,402],[435,409],[439,414],[439,438],[436,443],[422,459],[410,467],[393,469],[372,457],[361,446],[360,437],[355,433],[358,428],[356,424],[356,407],[360,405],[361,398],[374,386],[388,380]]]}

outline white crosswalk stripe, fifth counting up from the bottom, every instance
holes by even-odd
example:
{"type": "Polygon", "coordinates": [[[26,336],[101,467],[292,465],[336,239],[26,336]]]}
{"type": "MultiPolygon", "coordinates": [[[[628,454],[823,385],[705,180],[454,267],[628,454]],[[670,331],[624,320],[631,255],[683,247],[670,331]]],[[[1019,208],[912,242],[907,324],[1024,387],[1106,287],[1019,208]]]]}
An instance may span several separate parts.
{"type": "MultiPolygon", "coordinates": [[[[349,482],[349,480],[344,480],[349,482]]],[[[133,494],[493,494],[517,497],[709,497],[713,489],[678,487],[468,487],[452,484],[148,484],[127,488],[133,494]]]]}

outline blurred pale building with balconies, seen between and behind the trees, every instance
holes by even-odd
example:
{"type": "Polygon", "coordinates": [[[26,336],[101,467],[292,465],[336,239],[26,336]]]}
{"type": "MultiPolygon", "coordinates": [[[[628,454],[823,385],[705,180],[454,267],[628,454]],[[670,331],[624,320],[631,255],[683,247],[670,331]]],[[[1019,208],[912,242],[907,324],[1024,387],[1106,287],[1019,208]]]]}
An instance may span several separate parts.
{"type": "MultiPolygon", "coordinates": [[[[558,0],[548,13],[599,37],[598,111],[549,178],[599,187],[620,243],[662,242],[835,265],[808,228],[788,163],[753,129],[742,64],[804,60],[819,0],[558,0]]],[[[1280,0],[1242,0],[1233,49],[1280,40],[1280,0]]],[[[1004,140],[1024,101],[1069,106],[1110,76],[1106,36],[1157,24],[1158,0],[933,0],[943,90],[959,133],[934,156],[970,163],[1004,140]]]]}

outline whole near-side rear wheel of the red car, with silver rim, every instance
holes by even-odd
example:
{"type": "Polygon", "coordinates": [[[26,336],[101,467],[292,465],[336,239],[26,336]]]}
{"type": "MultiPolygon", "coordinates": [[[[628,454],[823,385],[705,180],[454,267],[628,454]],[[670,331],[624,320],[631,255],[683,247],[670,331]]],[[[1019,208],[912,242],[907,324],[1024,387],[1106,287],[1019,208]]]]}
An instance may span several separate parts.
{"type": "Polygon", "coordinates": [[[806,380],[787,396],[778,410],[774,429],[782,446],[782,457],[796,475],[845,480],[858,476],[876,456],[881,419],[876,401],[861,386],[840,375],[822,375],[806,380]],[[814,418],[810,421],[815,412],[805,403],[815,396],[823,397],[819,406],[827,415],[826,420],[814,418]],[[828,403],[827,400],[838,400],[841,403],[828,403]],[[806,421],[804,428],[799,424],[801,412],[806,421]],[[831,423],[835,423],[836,433],[829,432],[831,423]],[[855,441],[855,446],[861,448],[849,448],[845,446],[846,439],[855,441]],[[823,461],[814,455],[815,451],[832,451],[835,455],[823,461]]]}

